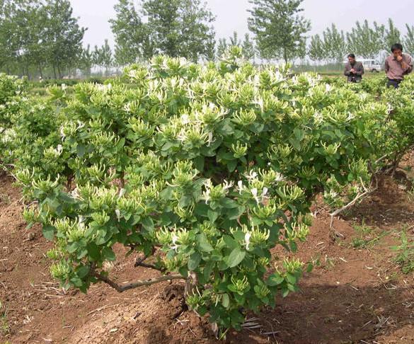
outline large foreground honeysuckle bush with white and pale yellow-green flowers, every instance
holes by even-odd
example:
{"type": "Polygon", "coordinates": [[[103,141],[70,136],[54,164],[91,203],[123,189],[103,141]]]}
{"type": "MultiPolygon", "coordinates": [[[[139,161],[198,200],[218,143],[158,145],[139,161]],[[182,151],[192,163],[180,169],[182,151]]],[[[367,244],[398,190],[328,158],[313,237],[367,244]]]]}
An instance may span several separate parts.
{"type": "Polygon", "coordinates": [[[54,87],[13,115],[25,219],[54,241],[64,287],[161,280],[117,285],[105,263],[118,243],[187,280],[188,306],[220,328],[298,289],[304,263],[272,250],[296,251],[315,195],[352,200],[396,149],[389,102],[254,67],[238,48],[217,64],[155,57],[124,81],[54,87]]]}

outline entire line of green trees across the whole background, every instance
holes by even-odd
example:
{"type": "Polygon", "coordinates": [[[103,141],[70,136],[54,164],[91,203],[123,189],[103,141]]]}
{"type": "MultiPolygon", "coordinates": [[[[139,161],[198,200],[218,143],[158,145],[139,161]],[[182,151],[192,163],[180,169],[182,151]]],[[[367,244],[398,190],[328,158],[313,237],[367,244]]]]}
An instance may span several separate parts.
{"type": "Polygon", "coordinates": [[[242,48],[249,59],[307,56],[314,61],[339,62],[347,52],[375,57],[393,42],[403,42],[414,53],[414,27],[401,32],[388,25],[357,22],[348,33],[333,24],[308,40],[311,23],[302,16],[304,0],[250,0],[248,28],[243,40],[237,33],[215,39],[213,13],[204,0],[118,0],[110,25],[115,50],[108,40],[100,47],[84,47],[84,33],[73,16],[69,0],[0,1],[0,69],[9,74],[62,78],[76,71],[88,76],[94,67],[109,74],[122,67],[163,54],[192,61],[219,57],[230,45],[242,48]],[[309,43],[309,44],[308,44],[309,43]],[[308,46],[307,46],[308,45],[308,46]]]}

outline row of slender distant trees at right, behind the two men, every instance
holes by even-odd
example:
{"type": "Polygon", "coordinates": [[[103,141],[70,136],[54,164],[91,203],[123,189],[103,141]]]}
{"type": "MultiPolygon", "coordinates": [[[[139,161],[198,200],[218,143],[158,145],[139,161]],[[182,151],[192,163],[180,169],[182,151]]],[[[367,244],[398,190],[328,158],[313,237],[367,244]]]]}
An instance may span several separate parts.
{"type": "Polygon", "coordinates": [[[338,30],[335,24],[326,28],[322,35],[311,37],[308,56],[318,62],[341,62],[348,52],[364,58],[375,58],[389,51],[391,45],[401,42],[410,54],[414,54],[414,27],[406,24],[406,35],[396,28],[389,18],[387,25],[357,21],[350,32],[338,30]]]}

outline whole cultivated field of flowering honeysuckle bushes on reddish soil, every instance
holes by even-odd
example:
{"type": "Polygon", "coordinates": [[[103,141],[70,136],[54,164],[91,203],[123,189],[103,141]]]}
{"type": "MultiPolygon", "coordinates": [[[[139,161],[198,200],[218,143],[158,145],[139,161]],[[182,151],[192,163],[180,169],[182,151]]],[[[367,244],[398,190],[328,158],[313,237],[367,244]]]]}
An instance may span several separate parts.
{"type": "Polygon", "coordinates": [[[0,79],[1,344],[414,342],[414,79],[0,79]]]}

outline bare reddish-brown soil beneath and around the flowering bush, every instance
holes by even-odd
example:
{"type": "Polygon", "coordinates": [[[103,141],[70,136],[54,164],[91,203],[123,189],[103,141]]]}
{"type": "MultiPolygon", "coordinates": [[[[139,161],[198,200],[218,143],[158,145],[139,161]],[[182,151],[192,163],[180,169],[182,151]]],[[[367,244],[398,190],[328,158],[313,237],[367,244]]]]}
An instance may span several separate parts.
{"type": "MultiPolygon", "coordinates": [[[[414,343],[414,274],[403,274],[390,247],[406,229],[414,239],[414,178],[408,166],[345,219],[333,242],[328,215],[317,212],[297,256],[319,264],[301,291],[277,300],[275,309],[248,316],[253,328],[232,332],[225,343],[414,343]],[[403,178],[404,177],[404,178],[403,178]]],[[[28,231],[21,193],[0,175],[0,344],[18,343],[223,343],[206,319],[183,311],[183,285],[163,282],[118,294],[94,285],[88,294],[63,292],[49,274],[52,245],[40,227],[28,231]]],[[[122,256],[122,255],[121,255],[122,256]]],[[[277,252],[275,251],[275,259],[277,252]]],[[[119,282],[154,277],[120,258],[111,267],[119,282]]]]}

